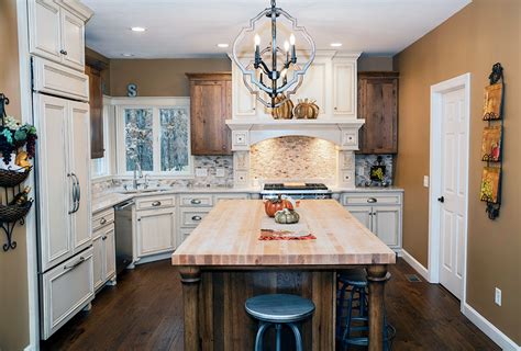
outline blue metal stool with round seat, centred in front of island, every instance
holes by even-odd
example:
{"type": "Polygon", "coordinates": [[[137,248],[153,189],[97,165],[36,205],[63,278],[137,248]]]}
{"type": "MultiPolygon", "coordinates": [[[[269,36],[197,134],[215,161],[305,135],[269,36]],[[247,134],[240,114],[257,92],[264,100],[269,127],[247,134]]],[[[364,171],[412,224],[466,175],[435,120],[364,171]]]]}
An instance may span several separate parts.
{"type": "Polygon", "coordinates": [[[292,330],[297,351],[303,350],[298,322],[313,315],[314,304],[312,301],[297,295],[268,294],[248,298],[245,308],[248,315],[259,320],[255,351],[263,351],[264,333],[271,326],[276,330],[276,350],[280,351],[284,325],[292,330]]]}

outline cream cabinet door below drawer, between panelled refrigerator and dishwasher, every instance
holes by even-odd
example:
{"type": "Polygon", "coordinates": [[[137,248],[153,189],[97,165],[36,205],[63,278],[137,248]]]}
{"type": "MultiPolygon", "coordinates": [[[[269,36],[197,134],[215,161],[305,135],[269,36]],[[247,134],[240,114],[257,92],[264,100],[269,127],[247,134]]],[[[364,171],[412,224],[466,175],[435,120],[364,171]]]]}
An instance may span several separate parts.
{"type": "Polygon", "coordinates": [[[115,276],[115,237],[113,223],[95,231],[92,256],[95,290],[98,290],[115,276]]]}

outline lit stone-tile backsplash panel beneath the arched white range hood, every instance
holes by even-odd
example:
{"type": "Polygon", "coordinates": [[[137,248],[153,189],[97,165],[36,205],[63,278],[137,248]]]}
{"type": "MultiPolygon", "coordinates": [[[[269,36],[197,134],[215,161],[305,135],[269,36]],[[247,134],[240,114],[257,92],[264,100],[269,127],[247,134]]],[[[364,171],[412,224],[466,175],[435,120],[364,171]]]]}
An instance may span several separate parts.
{"type": "Polygon", "coordinates": [[[337,151],[328,140],[285,136],[250,149],[250,177],[257,182],[302,180],[335,182],[337,151]]]}

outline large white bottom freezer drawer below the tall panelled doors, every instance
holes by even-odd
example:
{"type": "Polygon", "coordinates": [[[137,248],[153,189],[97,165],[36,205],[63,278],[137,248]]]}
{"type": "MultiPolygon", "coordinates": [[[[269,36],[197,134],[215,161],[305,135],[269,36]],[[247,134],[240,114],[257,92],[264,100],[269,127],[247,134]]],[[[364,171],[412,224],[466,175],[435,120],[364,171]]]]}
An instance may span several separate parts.
{"type": "Polygon", "coordinates": [[[92,248],[43,274],[42,283],[42,335],[46,340],[92,301],[92,248]]]}

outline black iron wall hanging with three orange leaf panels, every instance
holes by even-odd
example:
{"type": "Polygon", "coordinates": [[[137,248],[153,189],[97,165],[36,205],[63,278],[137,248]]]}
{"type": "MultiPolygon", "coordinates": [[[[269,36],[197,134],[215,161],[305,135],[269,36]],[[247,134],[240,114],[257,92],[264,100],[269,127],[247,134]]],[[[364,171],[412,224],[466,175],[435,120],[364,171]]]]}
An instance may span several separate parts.
{"type": "Polygon", "coordinates": [[[485,88],[483,121],[487,126],[483,132],[481,161],[487,162],[481,173],[479,199],[486,202],[488,218],[496,219],[501,207],[502,138],[505,79],[500,63],[492,66],[488,76],[490,86],[485,88]]]}

